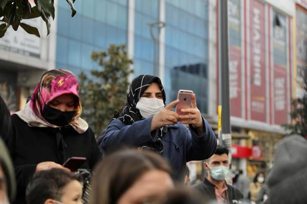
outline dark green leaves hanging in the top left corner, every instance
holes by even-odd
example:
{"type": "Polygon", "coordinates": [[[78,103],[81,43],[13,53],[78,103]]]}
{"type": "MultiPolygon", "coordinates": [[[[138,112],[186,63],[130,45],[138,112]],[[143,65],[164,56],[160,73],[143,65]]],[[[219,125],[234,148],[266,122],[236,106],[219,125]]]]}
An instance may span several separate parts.
{"type": "MultiPolygon", "coordinates": [[[[64,1],[64,0],[59,0],[64,1]]],[[[71,7],[72,17],[76,14],[73,2],[65,0],[71,7]]],[[[19,25],[27,33],[40,37],[37,28],[32,27],[24,22],[23,19],[41,17],[46,23],[47,35],[50,33],[50,16],[54,19],[54,0],[34,0],[36,6],[32,7],[28,0],[1,0],[0,1],[0,38],[2,38],[7,29],[12,25],[12,28],[17,31],[19,25]]]]}

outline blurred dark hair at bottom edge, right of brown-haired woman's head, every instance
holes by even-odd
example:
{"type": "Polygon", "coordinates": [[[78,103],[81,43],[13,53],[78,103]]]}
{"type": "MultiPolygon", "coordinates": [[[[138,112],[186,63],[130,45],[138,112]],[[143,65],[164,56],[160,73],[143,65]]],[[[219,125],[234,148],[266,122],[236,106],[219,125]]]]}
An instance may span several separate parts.
{"type": "Polygon", "coordinates": [[[179,188],[168,192],[160,204],[205,204],[210,201],[213,200],[200,194],[196,189],[179,188]]]}

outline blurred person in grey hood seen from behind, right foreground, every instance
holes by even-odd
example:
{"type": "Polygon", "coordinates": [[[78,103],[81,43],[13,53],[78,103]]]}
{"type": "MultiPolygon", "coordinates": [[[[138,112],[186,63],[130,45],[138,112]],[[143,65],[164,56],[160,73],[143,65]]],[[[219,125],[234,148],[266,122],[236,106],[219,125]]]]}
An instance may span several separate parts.
{"type": "Polygon", "coordinates": [[[279,144],[268,176],[269,203],[307,203],[307,140],[286,137],[279,144]]]}

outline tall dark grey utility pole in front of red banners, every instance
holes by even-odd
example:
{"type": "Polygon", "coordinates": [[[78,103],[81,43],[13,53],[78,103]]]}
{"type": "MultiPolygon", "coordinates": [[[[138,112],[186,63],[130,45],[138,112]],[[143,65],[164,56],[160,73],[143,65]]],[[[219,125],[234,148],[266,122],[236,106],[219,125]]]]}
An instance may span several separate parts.
{"type": "MultiPolygon", "coordinates": [[[[231,150],[231,125],[229,101],[229,43],[228,43],[228,0],[218,1],[219,25],[219,80],[222,106],[222,130],[219,133],[220,145],[231,150]]],[[[231,151],[230,151],[231,152],[231,151]]],[[[231,161],[231,154],[229,154],[231,161]]]]}

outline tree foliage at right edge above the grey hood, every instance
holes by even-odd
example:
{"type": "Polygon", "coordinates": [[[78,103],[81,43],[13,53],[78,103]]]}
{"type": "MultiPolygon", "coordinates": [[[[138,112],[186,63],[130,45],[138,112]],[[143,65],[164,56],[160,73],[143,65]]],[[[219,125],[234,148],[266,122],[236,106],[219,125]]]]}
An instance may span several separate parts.
{"type": "Polygon", "coordinates": [[[292,124],[283,125],[292,134],[299,134],[307,138],[307,75],[301,73],[303,81],[299,85],[305,94],[301,98],[292,99],[292,111],[290,113],[292,124]]]}

